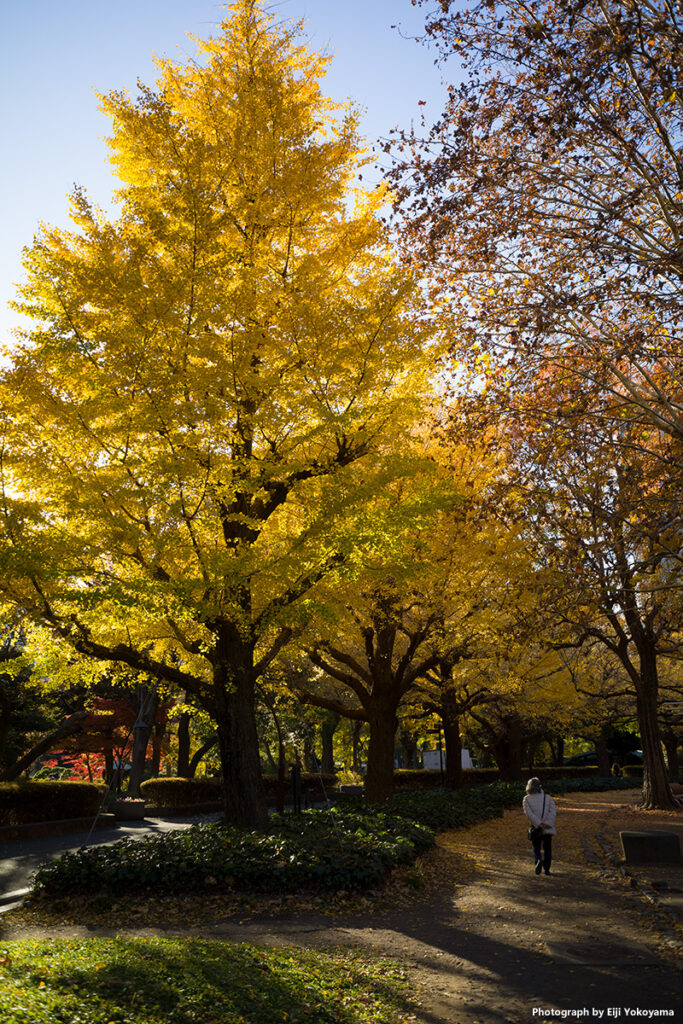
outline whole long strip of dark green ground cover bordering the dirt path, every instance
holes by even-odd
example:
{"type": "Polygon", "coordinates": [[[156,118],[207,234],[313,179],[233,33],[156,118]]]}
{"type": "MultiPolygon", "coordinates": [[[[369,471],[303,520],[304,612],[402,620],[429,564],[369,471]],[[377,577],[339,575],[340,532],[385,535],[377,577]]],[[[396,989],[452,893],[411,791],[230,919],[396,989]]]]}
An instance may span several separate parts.
{"type": "MultiPolygon", "coordinates": [[[[555,794],[628,788],[628,779],[566,779],[555,794]]],[[[632,784],[631,784],[632,787],[632,784]]],[[[67,853],[41,867],[34,895],[88,892],[213,891],[288,893],[367,889],[410,864],[434,833],[500,817],[521,802],[522,782],[398,793],[390,805],[345,798],[334,810],[274,814],[265,830],[219,823],[67,853]]]]}

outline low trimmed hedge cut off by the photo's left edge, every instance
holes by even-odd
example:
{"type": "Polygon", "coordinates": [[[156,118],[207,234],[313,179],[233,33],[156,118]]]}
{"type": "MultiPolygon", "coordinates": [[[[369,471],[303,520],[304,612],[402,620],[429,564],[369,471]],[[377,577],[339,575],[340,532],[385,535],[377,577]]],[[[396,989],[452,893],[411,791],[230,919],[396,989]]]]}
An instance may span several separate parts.
{"type": "Polygon", "coordinates": [[[0,825],[94,817],[103,787],[92,782],[17,779],[0,782],[0,825]]]}

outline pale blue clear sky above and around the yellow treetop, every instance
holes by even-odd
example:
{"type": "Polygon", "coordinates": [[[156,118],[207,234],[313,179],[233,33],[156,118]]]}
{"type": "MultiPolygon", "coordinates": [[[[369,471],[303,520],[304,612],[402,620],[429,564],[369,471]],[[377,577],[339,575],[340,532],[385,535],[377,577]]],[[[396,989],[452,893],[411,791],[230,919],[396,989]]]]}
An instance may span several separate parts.
{"type": "MultiPolygon", "coordinates": [[[[284,19],[306,19],[315,49],[334,61],[325,91],[367,109],[369,139],[436,117],[444,89],[434,54],[404,36],[422,32],[411,0],[280,0],[284,19]],[[392,26],[398,25],[400,31],[392,26]],[[425,106],[418,101],[424,100],[425,106]]],[[[22,276],[20,253],[41,220],[66,224],[75,182],[101,206],[115,182],[95,91],[134,91],[155,80],[155,54],[193,52],[187,33],[215,34],[225,7],[210,0],[16,0],[0,16],[0,344],[17,316],[7,308],[22,276]]]]}

